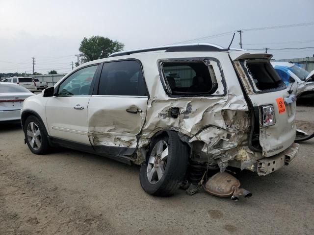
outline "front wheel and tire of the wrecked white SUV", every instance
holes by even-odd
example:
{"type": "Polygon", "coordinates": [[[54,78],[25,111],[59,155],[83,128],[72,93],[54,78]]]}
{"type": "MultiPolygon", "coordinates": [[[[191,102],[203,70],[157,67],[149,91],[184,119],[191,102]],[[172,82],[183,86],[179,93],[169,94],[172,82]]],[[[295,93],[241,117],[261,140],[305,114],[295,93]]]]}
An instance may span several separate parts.
{"type": "Polygon", "coordinates": [[[24,123],[24,134],[30,151],[34,154],[46,154],[49,142],[44,124],[35,116],[29,116],[24,123]]]}

